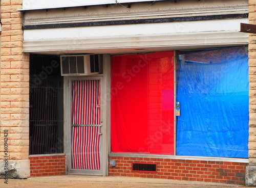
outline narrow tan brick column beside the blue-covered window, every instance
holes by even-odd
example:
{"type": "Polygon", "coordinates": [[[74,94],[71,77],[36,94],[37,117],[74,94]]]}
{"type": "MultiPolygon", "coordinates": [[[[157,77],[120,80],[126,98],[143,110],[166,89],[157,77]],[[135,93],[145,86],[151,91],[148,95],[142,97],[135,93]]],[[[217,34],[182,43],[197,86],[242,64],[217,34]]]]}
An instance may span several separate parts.
{"type": "MultiPolygon", "coordinates": [[[[249,0],[249,23],[256,24],[255,0],[249,0]]],[[[249,166],[246,185],[256,186],[256,35],[249,34],[249,166]]]]}

